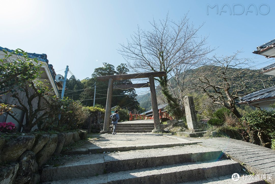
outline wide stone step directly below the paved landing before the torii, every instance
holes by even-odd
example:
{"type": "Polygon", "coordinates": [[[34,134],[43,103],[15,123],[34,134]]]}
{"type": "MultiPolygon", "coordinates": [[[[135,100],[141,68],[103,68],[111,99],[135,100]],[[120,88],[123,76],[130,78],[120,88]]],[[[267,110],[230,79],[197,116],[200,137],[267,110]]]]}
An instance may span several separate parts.
{"type": "Polygon", "coordinates": [[[145,167],[214,160],[222,155],[221,150],[198,145],[83,155],[65,165],[43,169],[41,180],[88,177],[145,167]]]}

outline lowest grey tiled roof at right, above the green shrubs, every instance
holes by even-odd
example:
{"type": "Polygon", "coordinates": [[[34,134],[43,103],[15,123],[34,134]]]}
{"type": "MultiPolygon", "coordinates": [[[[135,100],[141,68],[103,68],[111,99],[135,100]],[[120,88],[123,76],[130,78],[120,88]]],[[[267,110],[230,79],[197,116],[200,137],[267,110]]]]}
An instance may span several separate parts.
{"type": "Polygon", "coordinates": [[[265,88],[259,91],[252,92],[240,98],[240,102],[251,102],[255,100],[262,100],[266,98],[275,97],[275,86],[271,86],[269,88],[265,88]]]}

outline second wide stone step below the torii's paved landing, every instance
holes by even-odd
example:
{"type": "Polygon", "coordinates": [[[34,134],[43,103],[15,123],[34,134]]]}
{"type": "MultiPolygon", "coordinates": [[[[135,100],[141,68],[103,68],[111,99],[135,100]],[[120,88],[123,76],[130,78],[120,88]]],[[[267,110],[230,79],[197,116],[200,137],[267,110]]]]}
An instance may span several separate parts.
{"type": "Polygon", "coordinates": [[[94,177],[82,177],[65,180],[51,181],[51,184],[103,184],[103,183],[182,183],[194,180],[206,179],[228,175],[228,173],[240,172],[240,164],[232,160],[206,161],[197,163],[173,164],[168,166],[150,167],[145,169],[134,169],[120,171],[94,177]]]}

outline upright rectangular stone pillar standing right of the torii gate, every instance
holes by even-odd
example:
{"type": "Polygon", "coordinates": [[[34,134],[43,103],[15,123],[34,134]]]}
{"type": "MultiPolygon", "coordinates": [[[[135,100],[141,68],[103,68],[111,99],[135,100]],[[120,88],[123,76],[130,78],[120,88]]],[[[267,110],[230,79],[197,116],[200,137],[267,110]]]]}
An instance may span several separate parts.
{"type": "Polygon", "coordinates": [[[197,116],[195,111],[194,100],[192,96],[185,96],[184,99],[185,116],[189,130],[198,129],[197,116]]]}

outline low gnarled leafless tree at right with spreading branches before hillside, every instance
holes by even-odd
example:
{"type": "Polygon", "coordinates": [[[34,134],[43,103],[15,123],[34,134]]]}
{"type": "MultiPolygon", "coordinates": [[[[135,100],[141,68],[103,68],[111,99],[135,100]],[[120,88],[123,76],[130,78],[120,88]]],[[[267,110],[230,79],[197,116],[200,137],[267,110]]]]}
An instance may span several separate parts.
{"type": "Polygon", "coordinates": [[[236,109],[236,99],[259,90],[269,80],[268,77],[255,79],[259,70],[252,70],[251,59],[239,59],[239,54],[238,51],[231,56],[213,56],[208,59],[209,65],[197,69],[189,80],[196,90],[207,94],[213,103],[226,107],[238,118],[241,114],[236,109]]]}

